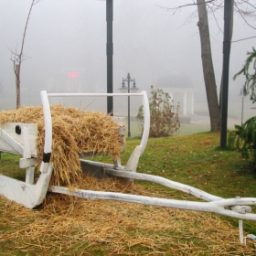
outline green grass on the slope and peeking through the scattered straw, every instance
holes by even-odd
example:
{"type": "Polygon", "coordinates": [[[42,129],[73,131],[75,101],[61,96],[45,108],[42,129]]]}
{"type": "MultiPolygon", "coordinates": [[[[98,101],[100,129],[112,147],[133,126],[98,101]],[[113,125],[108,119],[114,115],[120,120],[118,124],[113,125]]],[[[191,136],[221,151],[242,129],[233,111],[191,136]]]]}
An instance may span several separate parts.
{"type": "MultiPolygon", "coordinates": [[[[140,140],[136,138],[130,138],[126,140],[125,150],[122,155],[122,163],[125,165],[130,155],[133,152],[133,148],[140,144],[140,140]]],[[[111,162],[108,156],[97,157],[103,162],[111,162]]],[[[18,156],[4,154],[0,160],[0,173],[15,176],[18,179],[24,179],[24,171],[18,172],[18,156]]],[[[144,155],[141,156],[137,172],[152,174],[156,176],[165,176],[176,182],[181,182],[189,186],[197,187],[210,194],[231,198],[231,197],[256,197],[255,192],[255,174],[252,169],[251,161],[242,159],[240,154],[236,151],[221,150],[219,148],[219,133],[194,133],[187,135],[177,135],[173,137],[155,138],[149,139],[144,155]]],[[[143,181],[134,181],[135,184],[140,184],[146,189],[152,189],[155,191],[163,191],[160,186],[143,181]]],[[[189,199],[198,200],[196,197],[189,196],[179,191],[173,191],[169,188],[165,188],[165,195],[171,193],[173,198],[177,199],[189,199]]],[[[3,211],[3,202],[0,198],[0,210],[3,211]]],[[[19,223],[17,226],[4,225],[3,212],[0,211],[0,237],[5,235],[5,231],[9,229],[22,228],[23,224],[19,223]]],[[[253,208],[255,212],[256,209],[253,208]]],[[[35,217],[33,217],[35,218],[35,217]]],[[[33,221],[31,219],[24,219],[29,223],[33,221]]],[[[221,217],[223,221],[229,221],[234,227],[238,227],[238,219],[231,219],[227,217],[221,217]]],[[[6,219],[5,219],[6,220],[6,219]]],[[[8,219],[9,223],[15,221],[15,219],[8,219]]],[[[25,225],[25,224],[24,224],[25,225]]],[[[249,233],[256,234],[256,221],[244,221],[244,230],[249,233]]],[[[134,229],[130,229],[131,236],[134,229]]],[[[144,236],[143,231],[140,231],[141,236],[144,236]]],[[[163,230],[168,235],[167,230],[163,230]]],[[[170,234],[169,234],[170,235],[170,234]]],[[[178,237],[183,234],[172,233],[178,237]]],[[[152,231],[152,237],[157,239],[157,233],[152,231]]],[[[200,240],[194,238],[194,245],[199,246],[200,240]]],[[[22,241],[16,241],[17,247],[22,244],[22,241]]],[[[0,244],[0,251],[9,251],[13,244],[0,244]]],[[[74,245],[69,248],[70,255],[77,255],[76,251],[78,245],[74,245]]],[[[86,248],[87,243],[80,244],[80,249],[86,248]]],[[[167,245],[165,245],[167,247],[167,245]]],[[[93,245],[90,247],[89,252],[91,255],[106,255],[106,251],[110,248],[106,245],[93,245]]],[[[131,255],[140,255],[142,251],[140,245],[133,246],[131,249],[131,255]]],[[[111,253],[111,251],[109,251],[111,253]]],[[[198,252],[199,254],[201,252],[198,252]]],[[[147,252],[144,251],[144,255],[147,252]]],[[[193,254],[193,255],[199,255],[193,254]]],[[[1,255],[1,252],[0,252],[1,255]]],[[[27,255],[22,251],[14,250],[12,255],[27,255]]],[[[32,254],[29,254],[32,255],[32,254]]],[[[40,255],[35,253],[35,255],[40,255]]],[[[58,255],[58,251],[52,251],[51,255],[58,255]]],[[[86,254],[90,255],[90,254],[86,254]]],[[[160,255],[160,254],[159,254],[160,255]]],[[[201,254],[204,255],[204,254],[201,254]]],[[[231,254],[229,254],[231,255],[231,254]]],[[[236,254],[237,255],[237,254],[236,254]]],[[[244,254],[250,255],[250,254],[244,254]]]]}

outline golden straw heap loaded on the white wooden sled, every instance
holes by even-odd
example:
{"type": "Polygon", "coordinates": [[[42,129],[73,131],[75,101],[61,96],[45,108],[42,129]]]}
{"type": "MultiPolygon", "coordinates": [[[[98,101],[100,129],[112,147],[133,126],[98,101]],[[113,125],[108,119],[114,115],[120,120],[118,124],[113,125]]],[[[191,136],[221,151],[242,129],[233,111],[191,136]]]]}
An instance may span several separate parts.
{"type": "MultiPolygon", "coordinates": [[[[61,104],[52,105],[51,185],[70,186],[81,177],[80,156],[84,153],[109,154],[116,160],[122,152],[119,126],[108,114],[83,112],[61,104]]],[[[45,127],[42,107],[25,107],[0,112],[0,123],[37,123],[38,158],[42,161],[45,127]]]]}

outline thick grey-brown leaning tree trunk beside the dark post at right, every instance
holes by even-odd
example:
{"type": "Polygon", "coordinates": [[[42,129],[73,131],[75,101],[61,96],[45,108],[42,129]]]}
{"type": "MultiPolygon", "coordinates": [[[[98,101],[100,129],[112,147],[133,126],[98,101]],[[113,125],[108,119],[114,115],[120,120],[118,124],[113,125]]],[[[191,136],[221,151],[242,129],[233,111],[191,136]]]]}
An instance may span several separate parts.
{"type": "Polygon", "coordinates": [[[211,132],[220,130],[220,114],[218,91],[215,80],[215,73],[212,63],[209,29],[208,29],[208,12],[205,0],[197,0],[197,11],[199,21],[200,42],[201,42],[201,58],[204,72],[204,80],[208,98],[208,111],[210,118],[211,132]]]}

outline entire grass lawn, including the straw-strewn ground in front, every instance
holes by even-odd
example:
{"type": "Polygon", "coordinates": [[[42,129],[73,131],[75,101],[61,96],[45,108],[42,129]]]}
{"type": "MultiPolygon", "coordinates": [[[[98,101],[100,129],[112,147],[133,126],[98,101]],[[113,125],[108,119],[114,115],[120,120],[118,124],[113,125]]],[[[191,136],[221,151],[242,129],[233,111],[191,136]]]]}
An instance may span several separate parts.
{"type": "MultiPolygon", "coordinates": [[[[123,164],[140,140],[126,143],[123,164]]],[[[17,165],[18,157],[2,155],[0,173],[22,178],[17,165]]],[[[149,139],[137,172],[165,176],[219,197],[256,197],[251,162],[236,151],[220,150],[219,133],[149,139]]],[[[123,193],[198,200],[143,181],[97,182],[109,182],[123,193]]],[[[256,235],[256,221],[245,220],[244,232],[256,235]]],[[[238,219],[48,194],[33,210],[0,197],[0,255],[256,255],[256,249],[253,240],[240,244],[238,219]]]]}

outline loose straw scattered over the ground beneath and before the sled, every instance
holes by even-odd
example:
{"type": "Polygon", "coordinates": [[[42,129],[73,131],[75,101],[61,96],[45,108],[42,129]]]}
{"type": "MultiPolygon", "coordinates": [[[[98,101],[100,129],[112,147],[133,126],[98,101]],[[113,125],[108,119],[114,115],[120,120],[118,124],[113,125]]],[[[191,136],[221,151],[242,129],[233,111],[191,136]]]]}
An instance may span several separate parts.
{"type": "MultiPolygon", "coordinates": [[[[175,196],[172,190],[91,176],[78,187],[175,196]]],[[[185,197],[179,199],[191,199],[185,197]]],[[[254,241],[241,245],[238,227],[219,215],[54,193],[45,200],[39,210],[29,210],[0,197],[3,255],[14,255],[13,248],[26,255],[256,255],[254,241]]]]}

